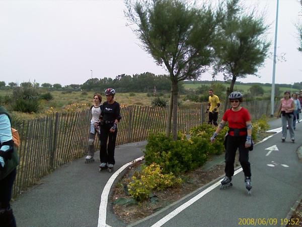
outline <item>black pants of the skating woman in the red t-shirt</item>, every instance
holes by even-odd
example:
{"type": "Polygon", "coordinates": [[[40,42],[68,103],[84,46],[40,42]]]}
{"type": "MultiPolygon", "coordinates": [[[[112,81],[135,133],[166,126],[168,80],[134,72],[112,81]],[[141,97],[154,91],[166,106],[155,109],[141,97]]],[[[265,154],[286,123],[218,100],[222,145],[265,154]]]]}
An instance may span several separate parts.
{"type": "Polygon", "coordinates": [[[245,148],[247,136],[228,136],[226,138],[225,151],[225,176],[232,177],[234,175],[234,162],[236,151],[239,148],[239,161],[243,168],[244,175],[251,177],[251,164],[249,162],[249,148],[245,148]]]}

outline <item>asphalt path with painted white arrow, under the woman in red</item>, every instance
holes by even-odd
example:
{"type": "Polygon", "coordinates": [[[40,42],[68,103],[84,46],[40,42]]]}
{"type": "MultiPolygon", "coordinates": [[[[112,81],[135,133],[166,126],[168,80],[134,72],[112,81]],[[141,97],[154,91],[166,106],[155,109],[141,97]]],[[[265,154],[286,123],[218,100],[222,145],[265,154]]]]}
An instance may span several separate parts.
{"type": "MultiPolygon", "coordinates": [[[[275,120],[271,125],[280,126],[281,122],[275,120]]],[[[302,164],[296,154],[302,145],[301,125],[296,125],[295,143],[289,142],[289,135],[282,143],[281,133],[277,133],[250,152],[251,195],[245,188],[244,174],[238,169],[233,187],[220,190],[221,178],[216,179],[174,206],[132,226],[280,226],[302,193],[302,164]],[[268,154],[266,148],[274,145],[278,150],[268,154]]]]}

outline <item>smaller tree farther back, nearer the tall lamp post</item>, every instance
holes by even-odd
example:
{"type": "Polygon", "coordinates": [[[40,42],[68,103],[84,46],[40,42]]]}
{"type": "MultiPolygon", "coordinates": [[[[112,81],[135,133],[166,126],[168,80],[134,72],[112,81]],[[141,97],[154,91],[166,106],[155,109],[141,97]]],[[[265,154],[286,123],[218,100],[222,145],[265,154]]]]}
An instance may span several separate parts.
{"type": "Polygon", "coordinates": [[[214,76],[223,73],[224,80],[231,79],[226,92],[226,110],[228,95],[233,92],[237,79],[248,75],[257,75],[268,54],[270,42],[265,38],[268,26],[263,17],[254,12],[245,13],[239,0],[226,2],[225,17],[219,26],[216,37],[215,54],[217,56],[214,76]]]}

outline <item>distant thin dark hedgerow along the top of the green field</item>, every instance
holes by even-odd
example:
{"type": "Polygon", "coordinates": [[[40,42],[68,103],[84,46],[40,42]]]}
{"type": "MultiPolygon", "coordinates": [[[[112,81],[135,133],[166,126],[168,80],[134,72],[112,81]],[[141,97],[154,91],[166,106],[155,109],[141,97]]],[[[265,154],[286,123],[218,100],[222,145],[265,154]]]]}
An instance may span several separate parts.
{"type": "MultiPolygon", "coordinates": [[[[202,81],[184,81],[185,84],[212,84],[212,83],[224,83],[224,84],[231,84],[231,81],[219,81],[219,80],[216,80],[216,81],[210,81],[210,80],[202,80],[202,81]]],[[[243,83],[243,82],[240,82],[240,81],[236,81],[236,85],[239,85],[239,84],[242,84],[242,85],[261,85],[261,86],[268,86],[268,87],[271,87],[272,84],[270,83],[243,83]]],[[[296,82],[296,83],[293,83],[293,85],[291,84],[275,84],[275,86],[278,86],[278,87],[288,87],[288,88],[293,88],[293,89],[302,89],[302,82],[296,82]]]]}

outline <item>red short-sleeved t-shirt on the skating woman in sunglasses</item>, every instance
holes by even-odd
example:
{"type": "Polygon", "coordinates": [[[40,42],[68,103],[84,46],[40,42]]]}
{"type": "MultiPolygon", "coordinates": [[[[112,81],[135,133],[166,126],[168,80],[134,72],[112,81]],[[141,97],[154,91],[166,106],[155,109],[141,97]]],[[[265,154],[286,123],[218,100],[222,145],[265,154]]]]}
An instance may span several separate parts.
{"type": "MultiPolygon", "coordinates": [[[[250,113],[247,109],[241,108],[239,111],[233,111],[228,109],[222,116],[222,120],[229,122],[229,127],[233,129],[242,129],[246,128],[246,122],[251,121],[250,113]]],[[[240,131],[239,135],[244,136],[247,133],[245,131],[240,131]]],[[[234,136],[234,131],[230,132],[231,136],[234,136]]]]}

